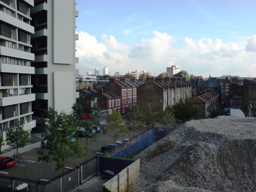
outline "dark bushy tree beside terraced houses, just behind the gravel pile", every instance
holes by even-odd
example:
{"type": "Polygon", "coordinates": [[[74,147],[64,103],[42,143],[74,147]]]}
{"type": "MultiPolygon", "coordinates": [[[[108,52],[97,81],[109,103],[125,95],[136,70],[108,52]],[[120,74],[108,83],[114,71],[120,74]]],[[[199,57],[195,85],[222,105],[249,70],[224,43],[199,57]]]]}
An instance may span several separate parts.
{"type": "Polygon", "coordinates": [[[174,116],[184,123],[187,119],[193,117],[198,112],[198,106],[194,105],[193,100],[186,98],[183,102],[180,100],[173,106],[174,116]]]}

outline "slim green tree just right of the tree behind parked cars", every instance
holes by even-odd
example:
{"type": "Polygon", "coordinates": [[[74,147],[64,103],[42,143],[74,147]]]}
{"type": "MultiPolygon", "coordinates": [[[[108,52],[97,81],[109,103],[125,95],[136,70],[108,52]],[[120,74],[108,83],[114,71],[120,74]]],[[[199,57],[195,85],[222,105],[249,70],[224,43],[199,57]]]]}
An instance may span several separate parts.
{"type": "Polygon", "coordinates": [[[140,112],[138,105],[132,105],[132,111],[127,113],[127,119],[128,122],[126,122],[125,125],[127,126],[128,130],[133,133],[133,135],[136,127],[144,126],[142,113],[140,112]]]}

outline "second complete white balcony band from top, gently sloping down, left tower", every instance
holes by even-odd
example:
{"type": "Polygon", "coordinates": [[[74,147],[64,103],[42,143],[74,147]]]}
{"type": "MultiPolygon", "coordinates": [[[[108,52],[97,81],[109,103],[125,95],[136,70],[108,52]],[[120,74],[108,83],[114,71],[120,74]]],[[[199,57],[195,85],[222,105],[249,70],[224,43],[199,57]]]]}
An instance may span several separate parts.
{"type": "Polygon", "coordinates": [[[26,59],[26,60],[30,60],[30,61],[34,61],[34,58],[35,58],[33,53],[20,51],[20,50],[16,50],[16,49],[4,47],[4,46],[0,46],[0,55],[20,58],[20,59],[26,59]]]}

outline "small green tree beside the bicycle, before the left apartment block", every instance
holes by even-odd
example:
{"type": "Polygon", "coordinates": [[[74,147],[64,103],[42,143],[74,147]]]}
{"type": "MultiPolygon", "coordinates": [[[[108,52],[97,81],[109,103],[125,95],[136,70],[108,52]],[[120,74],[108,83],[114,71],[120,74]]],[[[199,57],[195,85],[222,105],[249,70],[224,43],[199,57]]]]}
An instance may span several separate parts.
{"type": "Polygon", "coordinates": [[[9,128],[6,131],[6,141],[9,146],[16,148],[18,154],[18,148],[22,148],[28,142],[29,133],[23,129],[23,123],[17,122],[14,128],[9,128]]]}

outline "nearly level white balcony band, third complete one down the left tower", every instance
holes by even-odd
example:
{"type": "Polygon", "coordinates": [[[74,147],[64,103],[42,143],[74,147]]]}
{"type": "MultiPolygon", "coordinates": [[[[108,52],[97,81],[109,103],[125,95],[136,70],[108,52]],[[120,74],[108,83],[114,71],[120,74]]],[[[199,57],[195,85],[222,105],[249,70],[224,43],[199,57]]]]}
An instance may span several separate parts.
{"type": "Polygon", "coordinates": [[[0,72],[35,74],[34,67],[0,63],[0,72]]]}

